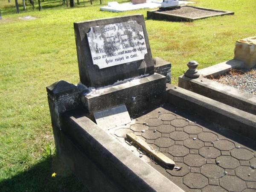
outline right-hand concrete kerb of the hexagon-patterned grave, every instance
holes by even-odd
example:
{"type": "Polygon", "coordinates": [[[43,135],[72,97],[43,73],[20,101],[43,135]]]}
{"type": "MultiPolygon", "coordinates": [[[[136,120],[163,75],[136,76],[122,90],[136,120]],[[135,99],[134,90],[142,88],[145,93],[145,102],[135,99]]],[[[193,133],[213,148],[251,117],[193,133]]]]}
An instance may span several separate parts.
{"type": "Polygon", "coordinates": [[[256,115],[173,85],[169,85],[167,100],[172,105],[256,140],[256,115]]]}

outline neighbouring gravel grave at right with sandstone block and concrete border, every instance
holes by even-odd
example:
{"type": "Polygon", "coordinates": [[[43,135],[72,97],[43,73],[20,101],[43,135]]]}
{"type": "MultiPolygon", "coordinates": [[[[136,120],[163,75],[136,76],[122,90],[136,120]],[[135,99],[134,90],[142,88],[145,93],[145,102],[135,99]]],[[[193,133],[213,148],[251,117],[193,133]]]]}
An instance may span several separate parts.
{"type": "Polygon", "coordinates": [[[179,87],[255,115],[256,96],[253,94],[256,84],[254,75],[255,39],[255,37],[250,37],[237,41],[234,59],[198,70],[200,76],[188,77],[186,74],[180,76],[179,87]],[[235,76],[227,75],[232,70],[247,72],[244,75],[237,73],[235,76]],[[219,76],[223,76],[223,78],[216,81],[211,80],[218,79],[219,76]],[[240,89],[238,89],[239,87],[240,89]]]}

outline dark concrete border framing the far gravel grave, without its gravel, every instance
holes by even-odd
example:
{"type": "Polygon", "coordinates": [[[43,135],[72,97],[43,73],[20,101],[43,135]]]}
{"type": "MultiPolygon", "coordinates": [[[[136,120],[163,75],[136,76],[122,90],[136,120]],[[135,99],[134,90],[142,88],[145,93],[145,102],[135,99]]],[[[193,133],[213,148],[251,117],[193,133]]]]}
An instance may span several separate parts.
{"type": "MultiPolygon", "coordinates": [[[[204,19],[207,17],[216,17],[216,16],[234,15],[235,14],[235,12],[231,12],[231,11],[208,9],[208,8],[204,8],[204,7],[195,7],[195,6],[183,6],[183,7],[192,7],[192,8],[196,8],[196,9],[203,9],[203,10],[207,10],[207,11],[222,12],[222,13],[208,15],[208,16],[201,16],[201,17],[184,17],[184,16],[179,16],[179,15],[174,15],[174,14],[163,13],[163,12],[161,12],[161,10],[157,10],[157,11],[148,11],[147,19],[168,20],[168,21],[194,21],[194,20],[198,20],[198,19],[204,19]]],[[[169,10],[172,10],[172,9],[169,9],[169,10]]],[[[164,11],[166,11],[166,10],[164,10],[164,11]]]]}

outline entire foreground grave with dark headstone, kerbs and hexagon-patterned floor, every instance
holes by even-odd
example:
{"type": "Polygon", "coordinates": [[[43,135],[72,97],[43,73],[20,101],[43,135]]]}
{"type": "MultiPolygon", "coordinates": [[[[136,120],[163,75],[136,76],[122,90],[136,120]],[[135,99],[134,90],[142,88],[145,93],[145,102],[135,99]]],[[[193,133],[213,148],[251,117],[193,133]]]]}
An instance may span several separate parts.
{"type": "Polygon", "coordinates": [[[74,30],[80,82],[47,95],[58,157],[90,191],[256,189],[256,115],[166,83],[143,15],[74,30]]]}

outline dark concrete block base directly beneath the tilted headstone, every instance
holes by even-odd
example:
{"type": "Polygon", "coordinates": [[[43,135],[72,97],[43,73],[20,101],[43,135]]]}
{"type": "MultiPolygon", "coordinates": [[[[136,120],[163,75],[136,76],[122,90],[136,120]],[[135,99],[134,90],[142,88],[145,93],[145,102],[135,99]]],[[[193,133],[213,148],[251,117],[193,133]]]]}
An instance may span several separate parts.
{"type": "Polygon", "coordinates": [[[93,113],[118,105],[125,105],[130,116],[165,102],[166,77],[158,73],[123,84],[100,89],[97,94],[81,96],[81,102],[93,113]]]}

